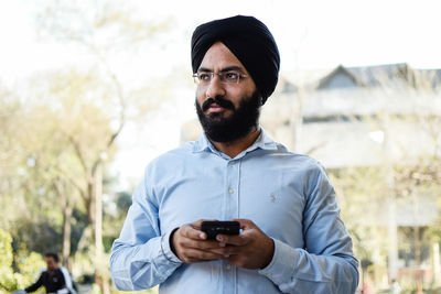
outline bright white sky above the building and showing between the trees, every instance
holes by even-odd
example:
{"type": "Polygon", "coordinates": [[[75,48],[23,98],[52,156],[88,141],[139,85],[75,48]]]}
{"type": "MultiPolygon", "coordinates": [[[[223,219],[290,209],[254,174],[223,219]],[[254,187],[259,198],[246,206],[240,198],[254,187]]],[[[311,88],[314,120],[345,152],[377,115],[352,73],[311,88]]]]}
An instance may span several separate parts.
{"type": "MultiPolygon", "coordinates": [[[[152,48],[158,55],[143,61],[152,68],[163,68],[164,73],[166,68],[182,66],[190,74],[190,39],[194,28],[235,14],[255,15],[267,24],[279,45],[282,73],[332,69],[338,64],[409,63],[413,67],[441,67],[441,1],[139,0],[136,3],[138,14],[146,19],[174,20],[166,48],[152,48]]],[[[36,41],[33,8],[29,0],[0,0],[0,83],[18,86],[22,78],[37,70],[62,67],[79,58],[72,58],[72,51],[62,45],[36,41]]],[[[116,66],[136,72],[132,66],[127,68],[127,64],[116,66]]],[[[184,98],[164,107],[166,121],[159,116],[154,122],[161,128],[146,127],[144,135],[133,138],[137,131],[129,126],[121,137],[120,145],[126,152],[119,155],[115,167],[121,175],[139,178],[150,159],[178,145],[180,123],[194,117],[194,96],[191,91],[176,95],[184,98]],[[174,120],[170,120],[170,113],[174,120]],[[148,144],[143,138],[149,138],[148,144]]]]}

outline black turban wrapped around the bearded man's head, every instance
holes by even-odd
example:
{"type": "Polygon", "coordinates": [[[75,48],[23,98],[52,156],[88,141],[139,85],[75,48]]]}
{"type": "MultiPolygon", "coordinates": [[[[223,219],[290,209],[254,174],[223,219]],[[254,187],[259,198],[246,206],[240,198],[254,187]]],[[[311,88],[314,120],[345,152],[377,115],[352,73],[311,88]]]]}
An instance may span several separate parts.
{"type": "Polygon", "coordinates": [[[192,37],[193,73],[218,41],[247,68],[265,104],[276,88],[280,67],[279,50],[268,28],[256,18],[243,15],[201,24],[192,37]]]}

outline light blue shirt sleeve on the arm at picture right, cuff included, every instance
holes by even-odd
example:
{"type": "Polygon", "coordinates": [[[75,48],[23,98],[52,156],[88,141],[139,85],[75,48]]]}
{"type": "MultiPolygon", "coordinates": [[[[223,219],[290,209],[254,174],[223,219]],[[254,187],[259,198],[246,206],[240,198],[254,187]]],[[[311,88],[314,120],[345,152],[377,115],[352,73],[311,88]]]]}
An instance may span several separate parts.
{"type": "Polygon", "coordinates": [[[335,192],[322,166],[309,183],[303,211],[305,248],[275,240],[275,254],[259,271],[283,293],[355,293],[358,261],[352,240],[340,218],[335,192]]]}

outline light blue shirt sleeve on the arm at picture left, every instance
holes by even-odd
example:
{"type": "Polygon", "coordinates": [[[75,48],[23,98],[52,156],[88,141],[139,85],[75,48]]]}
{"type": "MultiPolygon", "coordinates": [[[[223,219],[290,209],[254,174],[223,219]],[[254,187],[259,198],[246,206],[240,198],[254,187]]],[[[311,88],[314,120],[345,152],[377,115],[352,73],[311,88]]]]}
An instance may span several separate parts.
{"type": "Polygon", "coordinates": [[[170,249],[170,233],[161,233],[158,206],[146,185],[139,185],[120,237],[111,249],[110,273],[119,290],[150,288],[165,281],[182,264],[170,249]]]}

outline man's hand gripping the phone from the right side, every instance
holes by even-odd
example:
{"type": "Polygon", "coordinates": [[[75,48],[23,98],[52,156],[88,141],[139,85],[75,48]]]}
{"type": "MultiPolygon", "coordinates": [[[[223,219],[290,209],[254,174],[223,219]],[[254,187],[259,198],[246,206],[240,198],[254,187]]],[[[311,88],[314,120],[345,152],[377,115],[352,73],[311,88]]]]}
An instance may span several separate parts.
{"type": "Polygon", "coordinates": [[[236,236],[217,235],[222,249],[211,251],[224,260],[245,269],[263,269],[272,260],[275,242],[249,219],[233,219],[240,222],[243,232],[236,236]],[[229,244],[229,246],[226,246],[229,244]]]}

